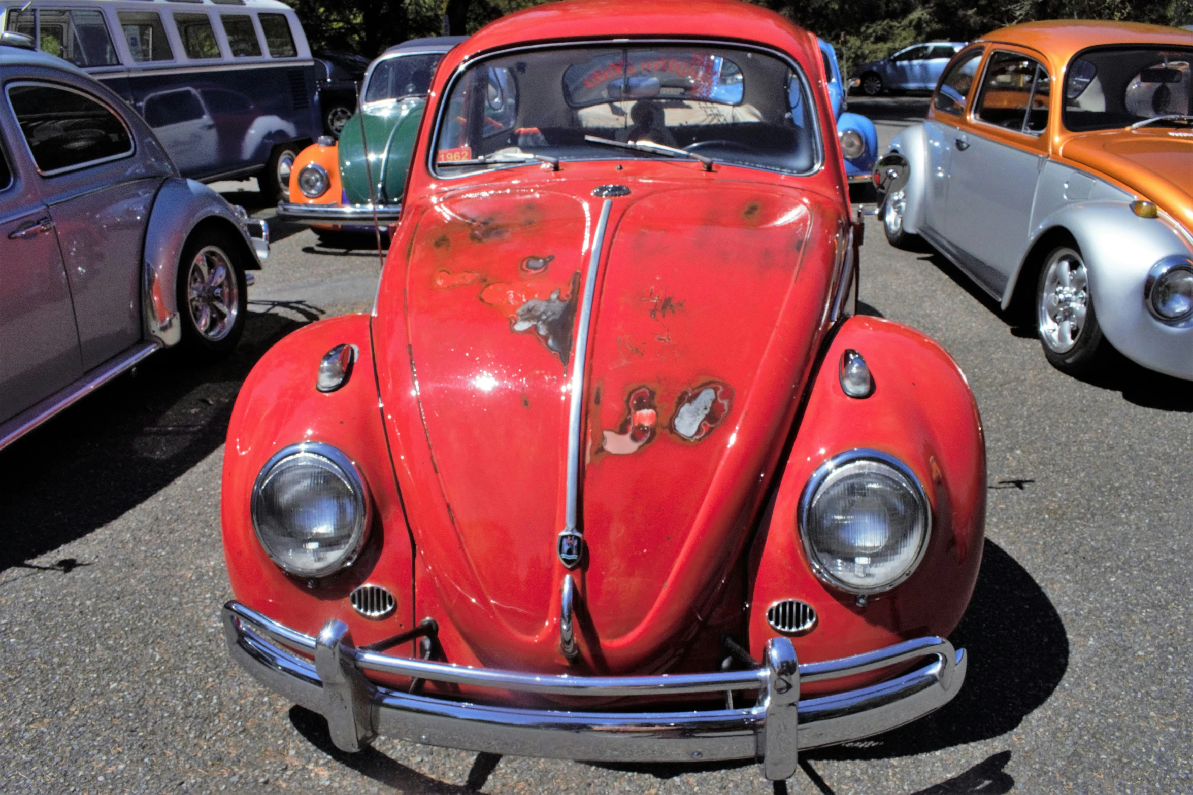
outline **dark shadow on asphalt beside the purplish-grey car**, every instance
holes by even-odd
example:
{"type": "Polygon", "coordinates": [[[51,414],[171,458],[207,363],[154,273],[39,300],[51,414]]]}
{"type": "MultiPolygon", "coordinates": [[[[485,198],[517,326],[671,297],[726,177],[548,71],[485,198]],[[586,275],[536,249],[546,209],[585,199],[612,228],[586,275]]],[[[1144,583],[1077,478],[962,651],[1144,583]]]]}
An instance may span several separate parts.
{"type": "MultiPolygon", "coordinates": [[[[0,451],[0,572],[124,515],[224,442],[240,385],[273,343],[322,310],[253,306],[230,356],[200,362],[163,350],[0,451]]],[[[217,501],[218,491],[210,495],[217,501]]],[[[73,559],[68,559],[70,563],[73,559]]],[[[79,565],[79,564],[76,564],[79,565]]]]}

